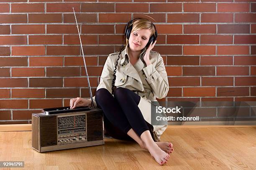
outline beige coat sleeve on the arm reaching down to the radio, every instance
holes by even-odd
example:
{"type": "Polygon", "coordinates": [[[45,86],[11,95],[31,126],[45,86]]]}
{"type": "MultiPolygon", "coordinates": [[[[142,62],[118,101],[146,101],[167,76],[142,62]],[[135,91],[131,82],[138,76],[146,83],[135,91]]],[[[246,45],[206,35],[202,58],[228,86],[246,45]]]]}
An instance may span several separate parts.
{"type": "MultiPolygon", "coordinates": [[[[110,93],[112,93],[113,74],[114,74],[113,62],[109,55],[103,67],[103,70],[100,76],[100,84],[98,85],[97,90],[99,90],[100,88],[105,88],[110,93]]],[[[97,107],[95,96],[93,96],[92,99],[93,99],[94,106],[97,107]]],[[[91,101],[91,99],[89,100],[91,101]]]]}

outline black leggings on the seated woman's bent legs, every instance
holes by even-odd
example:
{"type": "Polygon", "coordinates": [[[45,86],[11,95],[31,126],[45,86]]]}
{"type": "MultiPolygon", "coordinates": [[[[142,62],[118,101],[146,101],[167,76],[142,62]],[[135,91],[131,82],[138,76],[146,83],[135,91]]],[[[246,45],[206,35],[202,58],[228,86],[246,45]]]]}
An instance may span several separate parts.
{"type": "Polygon", "coordinates": [[[140,99],[139,95],[123,87],[115,89],[114,97],[105,88],[96,91],[95,100],[97,107],[104,112],[104,128],[108,135],[120,140],[133,140],[127,135],[131,128],[139,137],[146,130],[153,135],[153,126],[144,120],[138,107],[140,99]]]}

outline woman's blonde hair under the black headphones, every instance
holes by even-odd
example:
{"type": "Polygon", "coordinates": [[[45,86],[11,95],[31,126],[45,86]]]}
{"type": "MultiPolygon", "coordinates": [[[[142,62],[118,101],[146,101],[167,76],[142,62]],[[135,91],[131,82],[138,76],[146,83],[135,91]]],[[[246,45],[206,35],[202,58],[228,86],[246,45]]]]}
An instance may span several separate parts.
{"type": "MultiPolygon", "coordinates": [[[[138,18],[138,19],[135,19],[133,20],[133,22],[131,23],[131,25],[133,26],[131,32],[133,31],[138,31],[138,30],[141,30],[141,29],[149,29],[151,31],[151,34],[150,34],[150,37],[152,35],[155,35],[155,27],[154,27],[154,24],[148,20],[148,19],[145,19],[145,18],[138,18]]],[[[129,25],[131,27],[131,25],[129,25]]],[[[128,26],[128,27],[129,27],[128,26]]],[[[125,46],[129,43],[129,40],[128,38],[125,36],[125,46]]]]}

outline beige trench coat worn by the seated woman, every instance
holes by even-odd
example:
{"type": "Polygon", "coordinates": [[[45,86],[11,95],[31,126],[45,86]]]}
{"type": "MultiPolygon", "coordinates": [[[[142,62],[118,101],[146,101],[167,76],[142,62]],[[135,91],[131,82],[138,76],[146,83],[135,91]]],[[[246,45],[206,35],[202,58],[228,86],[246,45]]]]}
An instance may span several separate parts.
{"type": "MultiPolygon", "coordinates": [[[[138,107],[144,119],[148,123],[151,123],[151,101],[157,101],[156,97],[159,99],[166,97],[169,90],[169,83],[161,55],[158,52],[151,51],[149,55],[151,64],[146,67],[146,64],[143,62],[143,54],[145,52],[146,48],[141,52],[138,62],[132,65],[129,62],[128,45],[125,47],[118,60],[115,86],[117,88],[124,87],[137,91],[136,94],[141,96],[138,107]]],[[[108,56],[97,90],[105,88],[112,93],[113,70],[118,59],[118,53],[115,52],[108,56]]],[[[95,96],[93,100],[95,107],[97,107],[95,96]]],[[[167,128],[167,122],[166,125],[153,125],[153,127],[154,139],[159,141],[160,136],[167,128]]]]}

